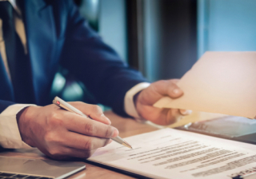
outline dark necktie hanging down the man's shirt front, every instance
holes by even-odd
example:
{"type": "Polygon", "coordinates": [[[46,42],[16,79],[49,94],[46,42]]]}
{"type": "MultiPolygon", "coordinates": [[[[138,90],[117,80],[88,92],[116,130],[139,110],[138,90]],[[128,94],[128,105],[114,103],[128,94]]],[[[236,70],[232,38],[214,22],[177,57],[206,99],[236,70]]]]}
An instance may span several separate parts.
{"type": "Polygon", "coordinates": [[[0,2],[2,33],[10,77],[14,86],[14,97],[18,103],[34,103],[30,60],[24,53],[22,42],[16,33],[13,14],[14,8],[10,2],[0,2]]]}

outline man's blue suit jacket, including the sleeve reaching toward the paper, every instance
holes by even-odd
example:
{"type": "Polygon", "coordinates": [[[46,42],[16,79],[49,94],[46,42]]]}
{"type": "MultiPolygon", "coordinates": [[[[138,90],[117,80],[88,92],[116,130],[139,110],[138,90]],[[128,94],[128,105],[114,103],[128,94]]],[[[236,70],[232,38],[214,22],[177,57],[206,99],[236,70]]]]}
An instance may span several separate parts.
{"type": "MultiPolygon", "coordinates": [[[[138,71],[126,66],[118,54],[102,42],[80,16],[73,1],[24,0],[22,15],[31,63],[34,104],[47,105],[46,98],[54,74],[62,65],[85,83],[99,103],[126,115],[123,105],[126,92],[145,79],[138,71]]],[[[14,103],[14,89],[0,59],[0,113],[14,103]]]]}

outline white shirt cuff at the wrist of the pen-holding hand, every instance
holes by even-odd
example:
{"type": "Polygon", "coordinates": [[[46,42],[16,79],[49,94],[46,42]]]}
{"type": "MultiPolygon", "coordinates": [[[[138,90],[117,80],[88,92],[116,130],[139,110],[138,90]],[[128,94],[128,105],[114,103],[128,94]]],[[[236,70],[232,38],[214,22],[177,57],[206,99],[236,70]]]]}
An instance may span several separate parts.
{"type": "Polygon", "coordinates": [[[27,145],[24,141],[22,141],[16,119],[16,114],[27,106],[30,105],[10,105],[2,113],[0,113],[0,145],[2,145],[3,148],[31,148],[30,145],[27,145]]]}

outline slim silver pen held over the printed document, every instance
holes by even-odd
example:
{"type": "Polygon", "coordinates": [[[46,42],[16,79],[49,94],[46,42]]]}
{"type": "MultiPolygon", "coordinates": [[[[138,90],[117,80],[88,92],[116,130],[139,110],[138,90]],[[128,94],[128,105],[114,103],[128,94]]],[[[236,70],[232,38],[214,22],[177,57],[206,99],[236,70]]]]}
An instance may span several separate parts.
{"type": "MultiPolygon", "coordinates": [[[[70,105],[66,101],[63,101],[60,97],[54,97],[53,101],[54,105],[58,105],[58,107],[62,109],[66,109],[67,111],[70,111],[71,113],[77,113],[80,116],[90,118],[86,116],[86,114],[82,113],[80,110],[76,109],[73,105],[70,105]]],[[[91,119],[91,118],[90,118],[91,119]]],[[[113,141],[118,142],[121,145],[124,145],[130,149],[133,149],[130,144],[128,144],[125,140],[123,140],[121,137],[111,137],[113,141]]]]}

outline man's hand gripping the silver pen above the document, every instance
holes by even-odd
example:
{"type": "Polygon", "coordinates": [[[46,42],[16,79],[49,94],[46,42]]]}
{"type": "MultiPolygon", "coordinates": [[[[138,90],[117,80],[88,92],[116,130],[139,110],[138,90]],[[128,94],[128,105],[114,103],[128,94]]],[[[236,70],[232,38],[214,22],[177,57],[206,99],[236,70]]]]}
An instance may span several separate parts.
{"type": "Polygon", "coordinates": [[[22,141],[49,157],[63,160],[90,157],[96,149],[109,144],[110,137],[118,136],[118,129],[110,125],[98,105],[83,102],[70,102],[70,105],[94,120],[57,105],[30,106],[17,115],[22,141]]]}

